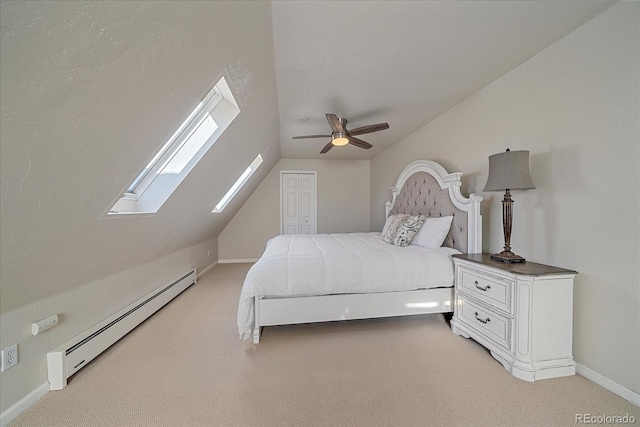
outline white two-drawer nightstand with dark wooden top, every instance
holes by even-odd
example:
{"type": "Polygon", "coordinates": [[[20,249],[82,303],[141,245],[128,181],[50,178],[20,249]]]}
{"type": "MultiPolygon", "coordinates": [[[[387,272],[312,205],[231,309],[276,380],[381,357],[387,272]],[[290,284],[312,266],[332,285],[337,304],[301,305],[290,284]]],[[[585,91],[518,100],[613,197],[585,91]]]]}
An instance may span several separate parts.
{"type": "Polygon", "coordinates": [[[505,264],[490,254],[454,255],[451,329],[485,346],[526,381],[574,375],[575,271],[533,262],[505,264]]]}

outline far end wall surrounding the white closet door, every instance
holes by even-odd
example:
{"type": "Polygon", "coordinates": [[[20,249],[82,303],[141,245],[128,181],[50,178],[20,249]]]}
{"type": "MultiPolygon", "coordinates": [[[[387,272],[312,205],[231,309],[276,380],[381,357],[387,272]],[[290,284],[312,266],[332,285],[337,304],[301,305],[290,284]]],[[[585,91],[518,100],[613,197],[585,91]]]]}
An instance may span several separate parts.
{"type": "Polygon", "coordinates": [[[283,170],[318,173],[318,233],[369,231],[368,160],[281,159],[220,233],[221,261],[257,259],[280,234],[283,170]]]}

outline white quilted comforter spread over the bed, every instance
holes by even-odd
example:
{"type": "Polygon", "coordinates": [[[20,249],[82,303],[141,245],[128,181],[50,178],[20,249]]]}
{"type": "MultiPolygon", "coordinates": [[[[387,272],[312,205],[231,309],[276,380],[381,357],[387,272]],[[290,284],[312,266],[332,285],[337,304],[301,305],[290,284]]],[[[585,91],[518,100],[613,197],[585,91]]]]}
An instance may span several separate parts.
{"type": "Polygon", "coordinates": [[[240,338],[251,336],[255,296],[309,296],[453,286],[451,248],[393,246],[380,233],[283,235],[269,240],[245,278],[240,338]]]}

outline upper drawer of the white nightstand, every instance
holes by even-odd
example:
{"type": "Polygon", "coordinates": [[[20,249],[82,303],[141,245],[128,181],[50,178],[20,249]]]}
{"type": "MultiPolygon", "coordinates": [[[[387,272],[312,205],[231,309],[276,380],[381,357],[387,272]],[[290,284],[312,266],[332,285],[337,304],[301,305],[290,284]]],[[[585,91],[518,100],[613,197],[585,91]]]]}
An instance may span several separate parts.
{"type": "Polygon", "coordinates": [[[513,282],[489,276],[475,270],[460,269],[459,286],[476,298],[486,301],[493,307],[511,313],[511,294],[513,282]]]}

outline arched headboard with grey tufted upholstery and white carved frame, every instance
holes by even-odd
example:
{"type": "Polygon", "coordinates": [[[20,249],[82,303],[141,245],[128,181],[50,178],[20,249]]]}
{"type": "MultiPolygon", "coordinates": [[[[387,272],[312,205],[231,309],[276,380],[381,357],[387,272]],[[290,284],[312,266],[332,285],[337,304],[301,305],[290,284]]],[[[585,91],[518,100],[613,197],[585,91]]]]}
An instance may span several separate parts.
{"type": "Polygon", "coordinates": [[[460,192],[462,173],[447,173],[436,162],[418,160],[408,165],[394,187],[386,214],[405,213],[427,218],[453,215],[451,229],[443,246],[462,253],[482,252],[482,197],[460,192]]]}

